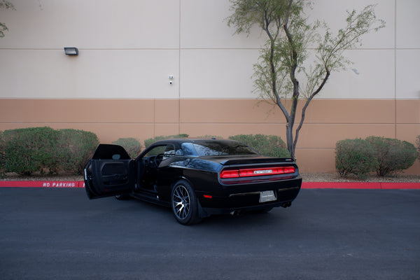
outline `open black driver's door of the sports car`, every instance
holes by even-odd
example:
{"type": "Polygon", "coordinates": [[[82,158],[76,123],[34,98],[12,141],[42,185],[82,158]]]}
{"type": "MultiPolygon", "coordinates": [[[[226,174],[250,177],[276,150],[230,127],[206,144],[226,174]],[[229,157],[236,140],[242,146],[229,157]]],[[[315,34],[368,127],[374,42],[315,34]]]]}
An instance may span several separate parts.
{"type": "Polygon", "coordinates": [[[84,170],[90,199],[131,193],[135,185],[135,162],[118,145],[100,144],[84,170]]]}

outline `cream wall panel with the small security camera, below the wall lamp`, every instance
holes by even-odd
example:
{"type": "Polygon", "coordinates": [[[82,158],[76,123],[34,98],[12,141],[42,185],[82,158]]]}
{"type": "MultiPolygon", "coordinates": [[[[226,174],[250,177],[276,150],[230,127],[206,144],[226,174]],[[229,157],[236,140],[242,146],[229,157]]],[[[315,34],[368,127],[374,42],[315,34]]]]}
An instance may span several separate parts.
{"type": "Polygon", "coordinates": [[[1,97],[178,98],[177,50],[0,50],[1,97]]]}

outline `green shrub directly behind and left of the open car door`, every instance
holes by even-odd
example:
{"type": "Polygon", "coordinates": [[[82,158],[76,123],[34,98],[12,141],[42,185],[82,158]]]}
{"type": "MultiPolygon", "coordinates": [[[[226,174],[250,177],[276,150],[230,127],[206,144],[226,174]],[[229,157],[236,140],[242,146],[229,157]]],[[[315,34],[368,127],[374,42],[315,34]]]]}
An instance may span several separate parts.
{"type": "Polygon", "coordinates": [[[83,174],[87,160],[99,145],[99,140],[93,132],[83,130],[59,130],[59,140],[55,148],[57,164],[66,173],[83,174]]]}

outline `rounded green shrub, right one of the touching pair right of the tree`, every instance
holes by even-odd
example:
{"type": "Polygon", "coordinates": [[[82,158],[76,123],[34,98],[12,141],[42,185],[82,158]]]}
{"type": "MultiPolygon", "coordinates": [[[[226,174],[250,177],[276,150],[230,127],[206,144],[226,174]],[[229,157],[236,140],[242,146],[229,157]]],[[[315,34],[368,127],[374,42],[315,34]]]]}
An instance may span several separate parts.
{"type": "Polygon", "coordinates": [[[398,139],[385,137],[367,137],[367,142],[374,148],[374,156],[377,158],[376,169],[378,176],[386,176],[408,169],[419,156],[416,147],[398,139]]]}

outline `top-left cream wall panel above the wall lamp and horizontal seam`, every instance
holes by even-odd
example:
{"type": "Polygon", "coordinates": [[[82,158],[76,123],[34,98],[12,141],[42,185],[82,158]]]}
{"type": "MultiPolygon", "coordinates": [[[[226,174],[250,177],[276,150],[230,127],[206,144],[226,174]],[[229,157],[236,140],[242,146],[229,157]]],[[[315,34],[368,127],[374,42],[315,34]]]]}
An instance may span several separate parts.
{"type": "Polygon", "coordinates": [[[179,48],[179,1],[11,0],[1,48],[179,48]]]}

